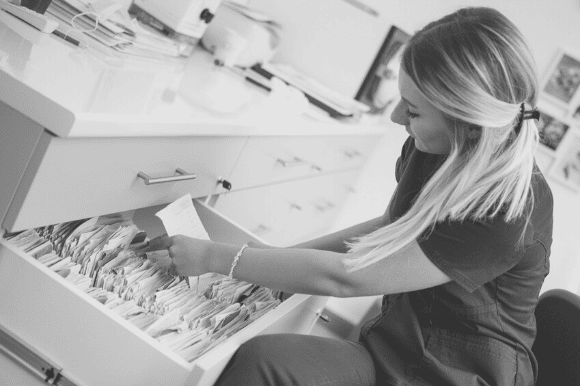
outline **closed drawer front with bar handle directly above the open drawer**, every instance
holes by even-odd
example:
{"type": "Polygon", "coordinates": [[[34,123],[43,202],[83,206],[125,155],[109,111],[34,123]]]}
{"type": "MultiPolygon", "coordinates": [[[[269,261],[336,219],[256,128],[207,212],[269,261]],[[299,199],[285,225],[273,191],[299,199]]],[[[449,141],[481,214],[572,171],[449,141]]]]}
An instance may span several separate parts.
{"type": "Polygon", "coordinates": [[[3,227],[22,230],[220,191],[246,138],[62,139],[44,134],[3,227]],[[195,179],[146,185],[140,172],[195,179]]]}

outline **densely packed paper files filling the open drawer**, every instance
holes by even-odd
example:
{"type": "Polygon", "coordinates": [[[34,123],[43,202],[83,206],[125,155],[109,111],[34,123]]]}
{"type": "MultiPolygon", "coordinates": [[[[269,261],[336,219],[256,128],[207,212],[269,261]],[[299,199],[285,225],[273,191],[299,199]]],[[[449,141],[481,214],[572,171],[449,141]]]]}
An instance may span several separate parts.
{"type": "Polygon", "coordinates": [[[169,273],[167,251],[140,252],[146,234],[119,215],[4,238],[188,361],[280,304],[268,288],[219,274],[190,287],[169,273]]]}

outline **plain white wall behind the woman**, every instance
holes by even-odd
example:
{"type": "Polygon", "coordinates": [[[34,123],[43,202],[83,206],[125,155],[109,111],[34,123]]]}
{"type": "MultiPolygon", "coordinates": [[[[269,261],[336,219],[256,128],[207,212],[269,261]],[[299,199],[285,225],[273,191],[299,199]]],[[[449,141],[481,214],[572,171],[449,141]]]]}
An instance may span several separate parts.
{"type": "MultiPolygon", "coordinates": [[[[364,0],[378,17],[354,9],[345,0],[251,0],[249,5],[285,24],[285,43],[275,58],[354,95],[388,27],[413,32],[425,23],[461,6],[491,6],[509,17],[526,36],[543,76],[558,47],[580,51],[579,0],[364,0]],[[326,7],[321,5],[326,4],[326,7]],[[328,10],[332,15],[328,15],[328,10]],[[302,15],[302,16],[301,16],[302,15]],[[353,23],[351,18],[357,20],[353,23]],[[295,20],[298,20],[297,22],[295,20]],[[358,25],[357,25],[358,23],[358,25]],[[353,55],[352,53],[357,53],[353,55]]],[[[386,125],[367,170],[336,229],[380,214],[394,189],[393,165],[405,132],[386,125]]],[[[543,291],[565,288],[580,294],[580,195],[550,181],[555,199],[551,273],[543,291]]]]}

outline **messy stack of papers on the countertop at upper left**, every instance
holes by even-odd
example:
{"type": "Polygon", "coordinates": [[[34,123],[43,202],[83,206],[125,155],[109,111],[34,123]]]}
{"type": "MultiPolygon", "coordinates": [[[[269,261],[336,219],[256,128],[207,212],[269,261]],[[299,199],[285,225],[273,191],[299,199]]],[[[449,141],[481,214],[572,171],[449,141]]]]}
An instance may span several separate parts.
{"type": "Polygon", "coordinates": [[[130,55],[178,58],[189,56],[193,49],[191,44],[168,38],[141,24],[126,8],[104,15],[95,12],[87,0],[52,0],[45,14],[60,23],[56,32],[59,36],[89,40],[88,45],[94,42],[130,55]]]}

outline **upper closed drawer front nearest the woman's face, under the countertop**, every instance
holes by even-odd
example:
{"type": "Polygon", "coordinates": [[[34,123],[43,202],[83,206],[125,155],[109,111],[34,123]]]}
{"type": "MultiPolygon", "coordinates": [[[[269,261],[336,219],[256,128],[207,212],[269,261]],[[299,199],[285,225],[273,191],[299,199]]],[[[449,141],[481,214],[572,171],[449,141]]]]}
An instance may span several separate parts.
{"type": "Polygon", "coordinates": [[[376,136],[251,137],[229,181],[232,190],[360,167],[376,136]]]}

